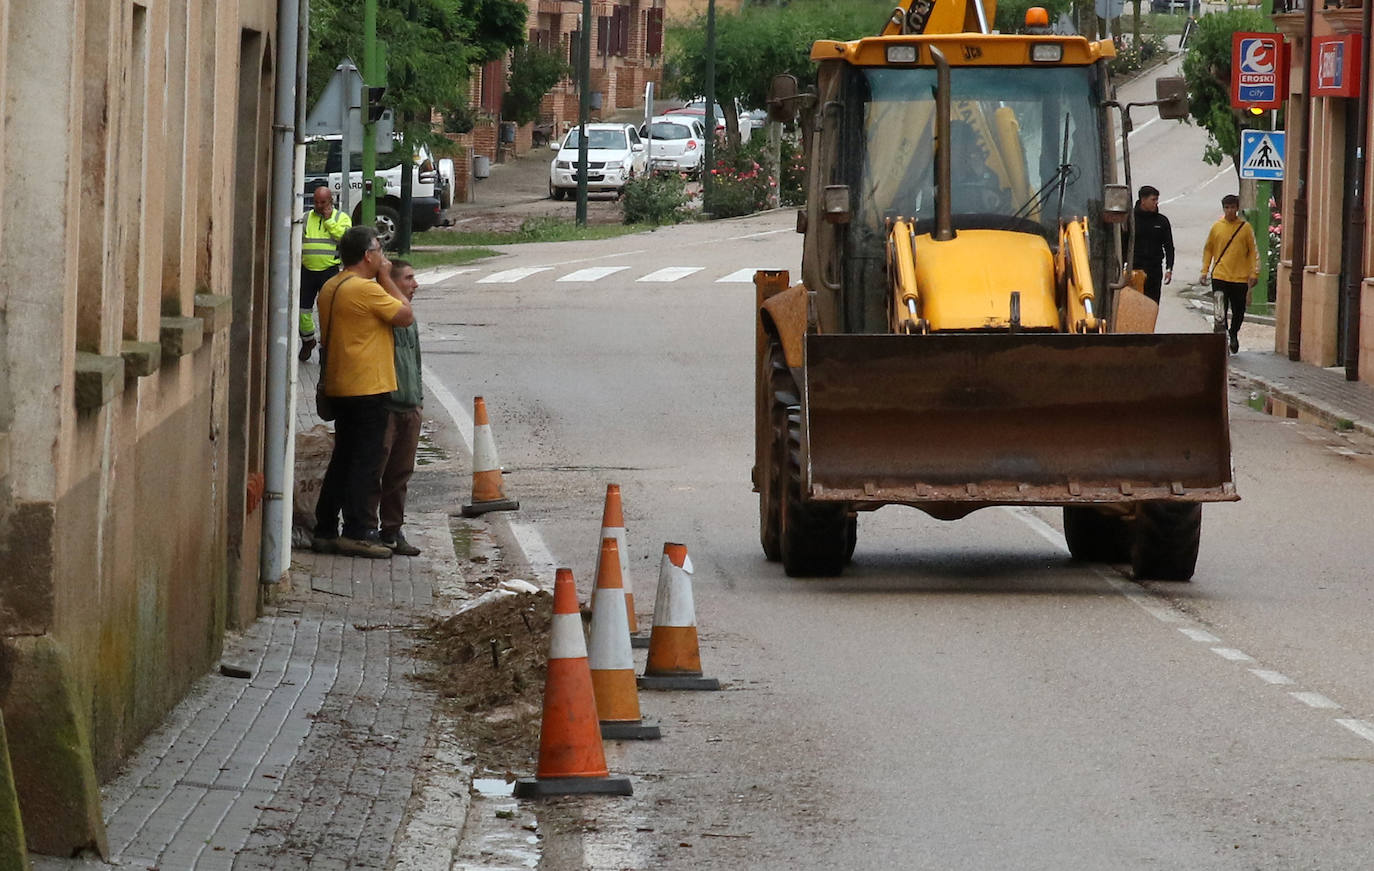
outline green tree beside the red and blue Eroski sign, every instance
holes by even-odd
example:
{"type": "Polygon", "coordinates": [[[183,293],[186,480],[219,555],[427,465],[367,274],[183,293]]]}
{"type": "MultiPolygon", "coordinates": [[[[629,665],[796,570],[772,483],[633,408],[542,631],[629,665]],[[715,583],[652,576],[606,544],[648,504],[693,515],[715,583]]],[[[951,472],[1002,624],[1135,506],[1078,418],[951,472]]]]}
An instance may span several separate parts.
{"type": "Polygon", "coordinates": [[[1274,22],[1253,8],[1213,12],[1198,19],[1197,32],[1183,55],[1183,77],[1189,82],[1189,111],[1206,131],[1202,159],[1220,166],[1227,157],[1241,172],[1242,115],[1231,109],[1231,34],[1270,32],[1274,22]]]}

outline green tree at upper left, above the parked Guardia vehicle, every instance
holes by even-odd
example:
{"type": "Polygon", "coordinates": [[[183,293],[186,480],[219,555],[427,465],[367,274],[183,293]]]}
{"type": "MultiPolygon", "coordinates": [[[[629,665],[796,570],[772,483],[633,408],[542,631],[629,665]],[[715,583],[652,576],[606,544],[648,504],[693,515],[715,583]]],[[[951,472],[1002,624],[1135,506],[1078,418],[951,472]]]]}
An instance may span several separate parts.
{"type": "MultiPolygon", "coordinates": [[[[408,140],[430,136],[430,110],[464,103],[469,69],[525,43],[519,0],[378,0],[376,36],[386,44],[386,104],[408,140]]],[[[363,58],[363,0],[311,0],[313,100],[344,58],[363,58]]]]}

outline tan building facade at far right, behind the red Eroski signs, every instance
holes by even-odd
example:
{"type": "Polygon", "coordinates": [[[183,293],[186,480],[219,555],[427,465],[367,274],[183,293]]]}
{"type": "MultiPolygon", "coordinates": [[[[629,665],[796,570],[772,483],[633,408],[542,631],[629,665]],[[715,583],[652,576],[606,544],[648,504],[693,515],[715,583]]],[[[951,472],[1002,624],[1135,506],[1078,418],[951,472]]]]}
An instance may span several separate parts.
{"type": "MultiPolygon", "coordinates": [[[[1297,121],[1303,118],[1304,95],[1308,93],[1311,81],[1305,81],[1307,65],[1304,58],[1309,55],[1311,47],[1305,44],[1303,30],[1301,0],[1290,3],[1287,10],[1274,15],[1274,22],[1290,48],[1290,85],[1289,102],[1286,107],[1287,128],[1292,131],[1297,121]]],[[[1318,5],[1314,10],[1312,43],[1320,44],[1330,37],[1355,34],[1358,45],[1360,33],[1359,3],[1345,3],[1338,5],[1318,5]]],[[[1364,45],[1364,52],[1370,47],[1364,45]]],[[[1358,85],[1359,63],[1358,58],[1348,59],[1347,76],[1353,70],[1358,85]],[[1349,60],[1355,60],[1349,63],[1349,60]]],[[[1358,89],[1358,88],[1356,88],[1358,89]]],[[[1312,124],[1304,125],[1309,131],[1308,140],[1308,224],[1307,250],[1303,283],[1301,283],[1301,310],[1298,312],[1298,326],[1301,341],[1298,343],[1298,357],[1312,365],[1341,365],[1347,364],[1351,353],[1358,354],[1358,364],[1353,367],[1359,381],[1374,381],[1374,243],[1370,232],[1363,238],[1356,238],[1351,232],[1347,220],[1349,207],[1349,191],[1352,188],[1352,173],[1355,172],[1355,151],[1359,144],[1358,117],[1359,99],[1345,96],[1319,96],[1320,91],[1314,91],[1312,124]],[[1356,328],[1347,326],[1347,305],[1344,297],[1344,269],[1345,251],[1356,246],[1359,249],[1359,291],[1356,301],[1358,320],[1356,328]]],[[[1369,137],[1363,143],[1369,148],[1369,137]]],[[[1293,198],[1297,192],[1298,172],[1298,142],[1289,135],[1285,155],[1286,181],[1283,196],[1279,205],[1285,217],[1285,232],[1281,249],[1276,287],[1276,337],[1275,352],[1287,354],[1290,350],[1289,327],[1294,319],[1293,294],[1290,290],[1290,276],[1293,269],[1293,239],[1290,238],[1289,216],[1293,213],[1293,198]]],[[[1364,185],[1370,184],[1370,166],[1366,166],[1364,185]]],[[[1374,227],[1374,198],[1366,196],[1364,203],[1366,228],[1374,227]]]]}

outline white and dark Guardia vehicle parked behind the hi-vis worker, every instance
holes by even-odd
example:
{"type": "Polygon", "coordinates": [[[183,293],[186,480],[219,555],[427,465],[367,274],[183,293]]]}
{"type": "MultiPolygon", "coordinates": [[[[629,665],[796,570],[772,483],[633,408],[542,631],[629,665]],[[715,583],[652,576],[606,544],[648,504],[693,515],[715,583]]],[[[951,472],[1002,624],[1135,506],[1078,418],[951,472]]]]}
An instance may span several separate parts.
{"type": "MultiPolygon", "coordinates": [[[[363,154],[349,155],[349,201],[353,223],[361,220],[363,209],[363,154]]],[[[305,205],[309,207],[315,188],[328,185],[338,202],[344,190],[344,152],[338,136],[319,136],[305,144],[305,205]]],[[[376,155],[376,236],[385,247],[397,242],[401,224],[401,152],[400,150],[376,155]]],[[[444,217],[440,205],[441,180],[434,157],[420,146],[415,151],[415,173],[411,176],[411,229],[425,232],[437,227],[444,217]]]]}

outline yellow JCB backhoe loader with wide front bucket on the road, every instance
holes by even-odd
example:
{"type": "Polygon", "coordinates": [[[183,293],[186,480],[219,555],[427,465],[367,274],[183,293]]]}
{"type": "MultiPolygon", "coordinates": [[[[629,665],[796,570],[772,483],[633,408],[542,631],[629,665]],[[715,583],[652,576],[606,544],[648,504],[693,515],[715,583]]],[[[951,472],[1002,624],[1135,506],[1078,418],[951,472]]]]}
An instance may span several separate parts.
{"type": "Polygon", "coordinates": [[[991,33],[993,3],[901,0],[812,47],[813,91],[774,81],[809,177],[801,283],[754,279],[764,552],[833,576],[861,511],[1062,506],[1076,558],[1190,580],[1202,503],[1238,499],[1226,337],[1154,332],[1123,268],[1113,44],[991,33]]]}

